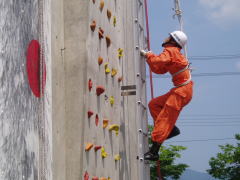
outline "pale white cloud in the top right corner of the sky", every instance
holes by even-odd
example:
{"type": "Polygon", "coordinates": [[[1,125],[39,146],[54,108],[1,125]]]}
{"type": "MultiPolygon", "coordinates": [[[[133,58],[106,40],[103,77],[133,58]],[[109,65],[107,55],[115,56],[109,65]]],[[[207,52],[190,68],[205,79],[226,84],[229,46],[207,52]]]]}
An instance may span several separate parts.
{"type": "Polygon", "coordinates": [[[217,24],[233,24],[240,21],[240,0],[198,0],[206,9],[205,15],[217,24]]]}

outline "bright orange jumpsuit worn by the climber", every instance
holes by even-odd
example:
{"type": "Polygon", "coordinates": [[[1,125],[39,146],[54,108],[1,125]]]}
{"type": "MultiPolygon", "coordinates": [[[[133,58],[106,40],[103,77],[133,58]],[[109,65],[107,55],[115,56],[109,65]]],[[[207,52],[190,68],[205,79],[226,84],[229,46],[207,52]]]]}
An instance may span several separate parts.
{"type": "MultiPolygon", "coordinates": [[[[152,72],[164,74],[169,72],[171,75],[179,72],[188,65],[187,59],[181,54],[180,48],[172,45],[166,45],[160,55],[147,53],[147,63],[152,72]]],[[[190,70],[174,75],[172,82],[175,88],[172,88],[167,94],[152,99],[149,102],[149,110],[154,120],[154,129],[152,140],[163,143],[171,133],[177,118],[184,106],[192,99],[193,82],[182,85],[190,79],[190,70]]]]}

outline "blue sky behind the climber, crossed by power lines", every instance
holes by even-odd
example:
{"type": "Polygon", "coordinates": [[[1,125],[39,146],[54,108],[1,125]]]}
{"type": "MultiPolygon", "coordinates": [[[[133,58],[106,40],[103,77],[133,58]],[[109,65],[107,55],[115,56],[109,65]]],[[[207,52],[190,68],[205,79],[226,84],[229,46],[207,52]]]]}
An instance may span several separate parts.
{"type": "MultiPolygon", "coordinates": [[[[178,29],[173,19],[173,0],[149,0],[151,50],[162,51],[161,43],[169,32],[178,29]]],[[[188,35],[189,56],[240,54],[240,1],[194,0],[181,1],[184,30],[188,35]]],[[[195,73],[240,72],[240,57],[235,59],[193,60],[195,73]]],[[[169,142],[188,149],[178,162],[196,171],[209,168],[210,157],[219,152],[218,145],[236,141],[240,133],[240,75],[194,77],[194,97],[177,122],[181,135],[169,142]],[[225,139],[215,141],[191,141],[225,139]]],[[[172,87],[170,79],[155,78],[155,97],[172,87]]],[[[149,88],[149,84],[148,84],[149,88]]],[[[150,100],[150,91],[148,91],[150,100]]],[[[149,118],[150,119],[150,118],[149,118]]],[[[151,121],[151,120],[150,120],[151,121]]],[[[167,142],[167,141],[166,141],[167,142]]],[[[167,143],[166,143],[167,144],[167,143]]]]}

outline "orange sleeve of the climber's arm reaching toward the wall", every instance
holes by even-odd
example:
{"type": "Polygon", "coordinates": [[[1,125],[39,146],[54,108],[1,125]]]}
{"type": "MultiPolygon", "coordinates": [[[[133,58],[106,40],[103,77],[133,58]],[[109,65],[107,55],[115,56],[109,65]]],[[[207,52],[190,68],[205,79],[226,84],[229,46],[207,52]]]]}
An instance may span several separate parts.
{"type": "Polygon", "coordinates": [[[171,57],[167,49],[164,49],[164,51],[160,55],[155,55],[153,53],[147,54],[147,63],[150,66],[152,72],[156,74],[164,74],[168,72],[166,64],[170,61],[171,57]]]}

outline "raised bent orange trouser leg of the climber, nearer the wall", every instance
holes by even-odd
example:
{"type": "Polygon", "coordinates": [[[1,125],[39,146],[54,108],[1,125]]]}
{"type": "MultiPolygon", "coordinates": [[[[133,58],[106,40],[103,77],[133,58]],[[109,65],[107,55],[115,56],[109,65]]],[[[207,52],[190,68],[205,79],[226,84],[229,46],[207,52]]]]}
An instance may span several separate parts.
{"type": "Polygon", "coordinates": [[[170,92],[162,96],[159,96],[157,98],[154,98],[149,102],[148,107],[149,107],[150,114],[153,118],[154,124],[162,108],[164,107],[169,95],[170,95],[170,92]]]}

